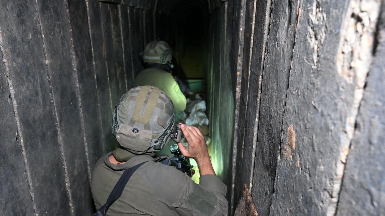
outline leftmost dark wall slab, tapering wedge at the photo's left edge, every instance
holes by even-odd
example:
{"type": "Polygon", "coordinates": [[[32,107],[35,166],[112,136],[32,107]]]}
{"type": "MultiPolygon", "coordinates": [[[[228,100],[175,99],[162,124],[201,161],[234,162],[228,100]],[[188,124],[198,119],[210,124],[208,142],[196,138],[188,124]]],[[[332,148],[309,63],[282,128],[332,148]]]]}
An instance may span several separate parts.
{"type": "Polygon", "coordinates": [[[36,205],[32,200],[34,193],[30,185],[31,176],[25,147],[24,143],[21,143],[15,119],[18,117],[17,110],[14,110],[17,104],[13,102],[10,92],[14,90],[12,83],[8,83],[6,62],[3,62],[5,58],[2,54],[2,28],[3,25],[0,25],[0,197],[6,199],[0,199],[0,211],[4,215],[33,215],[36,205]]]}

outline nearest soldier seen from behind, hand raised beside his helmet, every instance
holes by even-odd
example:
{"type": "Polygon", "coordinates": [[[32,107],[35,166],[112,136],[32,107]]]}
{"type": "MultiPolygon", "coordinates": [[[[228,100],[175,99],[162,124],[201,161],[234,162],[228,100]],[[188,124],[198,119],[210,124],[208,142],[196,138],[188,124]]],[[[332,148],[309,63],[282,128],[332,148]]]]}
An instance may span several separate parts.
{"type": "Polygon", "coordinates": [[[197,161],[200,184],[154,158],[154,152],[171,139],[174,120],[171,99],[154,86],[138,86],[122,96],[112,123],[121,147],[100,158],[92,175],[92,196],[102,212],[98,215],[227,215],[226,185],[214,173],[198,128],[181,125],[189,147],[178,146],[184,156],[197,161]],[[111,191],[126,171],[133,173],[131,178],[121,187],[120,198],[108,204],[107,198],[114,197],[111,191]]]}

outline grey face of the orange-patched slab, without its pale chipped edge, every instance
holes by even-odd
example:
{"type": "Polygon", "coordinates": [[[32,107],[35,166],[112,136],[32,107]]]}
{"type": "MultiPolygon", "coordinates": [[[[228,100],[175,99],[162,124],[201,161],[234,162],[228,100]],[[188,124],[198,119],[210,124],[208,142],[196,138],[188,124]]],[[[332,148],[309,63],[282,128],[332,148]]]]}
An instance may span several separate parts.
{"type": "Polygon", "coordinates": [[[325,215],[333,204],[354,88],[336,67],[348,1],[301,1],[271,215],[325,215]]]}

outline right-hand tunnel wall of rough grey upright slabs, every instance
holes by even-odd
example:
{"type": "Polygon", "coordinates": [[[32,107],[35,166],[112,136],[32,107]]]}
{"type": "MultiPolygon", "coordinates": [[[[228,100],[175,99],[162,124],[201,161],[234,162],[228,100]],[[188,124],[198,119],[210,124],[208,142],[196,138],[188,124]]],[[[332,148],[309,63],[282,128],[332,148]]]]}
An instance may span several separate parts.
{"type": "Polygon", "coordinates": [[[234,203],[246,184],[259,215],[384,214],[384,2],[239,5],[234,203]]]}

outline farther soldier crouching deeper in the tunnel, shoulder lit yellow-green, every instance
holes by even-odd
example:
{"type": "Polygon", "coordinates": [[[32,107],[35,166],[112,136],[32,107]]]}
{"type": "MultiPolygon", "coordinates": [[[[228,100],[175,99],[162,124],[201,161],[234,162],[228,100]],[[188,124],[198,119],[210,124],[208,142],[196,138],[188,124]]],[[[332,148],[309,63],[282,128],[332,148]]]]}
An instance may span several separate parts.
{"type": "Polygon", "coordinates": [[[179,112],[186,109],[186,97],[170,73],[171,59],[171,48],[166,42],[155,40],[147,44],[143,52],[146,69],[136,76],[134,86],[156,86],[171,98],[175,111],[179,112]]]}

